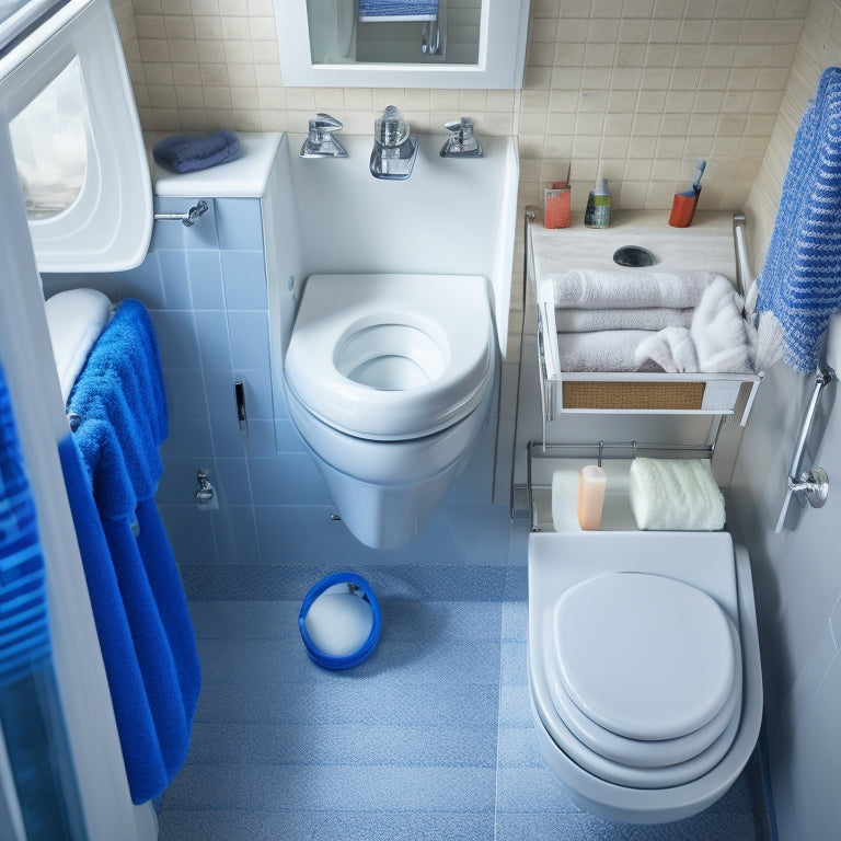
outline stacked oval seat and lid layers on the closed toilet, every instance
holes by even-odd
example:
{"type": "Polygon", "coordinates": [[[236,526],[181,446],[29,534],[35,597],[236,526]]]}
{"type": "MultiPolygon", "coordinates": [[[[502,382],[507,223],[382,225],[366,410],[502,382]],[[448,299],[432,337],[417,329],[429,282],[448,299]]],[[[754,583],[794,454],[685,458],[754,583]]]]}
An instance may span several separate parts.
{"type": "Polygon", "coordinates": [[[578,764],[638,788],[683,785],[729,749],[739,636],[706,594],[615,572],[566,589],[543,618],[544,726],[578,764]],[[640,680],[640,677],[643,677],[640,680]]]}

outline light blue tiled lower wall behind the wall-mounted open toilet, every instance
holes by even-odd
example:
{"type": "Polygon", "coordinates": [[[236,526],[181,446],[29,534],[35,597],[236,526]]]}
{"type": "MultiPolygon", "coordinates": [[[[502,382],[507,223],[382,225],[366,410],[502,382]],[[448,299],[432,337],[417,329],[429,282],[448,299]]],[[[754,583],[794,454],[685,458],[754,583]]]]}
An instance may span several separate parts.
{"type": "MultiPolygon", "coordinates": [[[[157,198],[155,211],[182,212],[195,200],[157,198]]],[[[507,499],[492,504],[496,412],[476,457],[431,523],[410,546],[377,552],[331,519],[335,512],[315,462],[275,387],[258,199],[210,200],[192,228],[158,221],[146,261],[114,274],[44,275],[47,297],[89,286],[113,301],[149,309],[161,350],[170,436],[157,495],[181,564],[449,563],[505,565],[507,499]],[[234,382],[245,387],[240,429],[234,382]],[[195,504],[206,468],[219,507],[195,504]]]]}

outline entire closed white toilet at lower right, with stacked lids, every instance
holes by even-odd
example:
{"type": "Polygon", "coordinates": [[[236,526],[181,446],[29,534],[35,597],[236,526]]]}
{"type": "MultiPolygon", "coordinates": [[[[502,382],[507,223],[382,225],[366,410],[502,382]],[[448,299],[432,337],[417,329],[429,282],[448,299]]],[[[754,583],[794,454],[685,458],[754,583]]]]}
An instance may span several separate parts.
{"type": "Polygon", "coordinates": [[[726,532],[531,534],[529,682],[543,754],[581,808],[701,811],[761,724],[747,552],[726,532]]]}

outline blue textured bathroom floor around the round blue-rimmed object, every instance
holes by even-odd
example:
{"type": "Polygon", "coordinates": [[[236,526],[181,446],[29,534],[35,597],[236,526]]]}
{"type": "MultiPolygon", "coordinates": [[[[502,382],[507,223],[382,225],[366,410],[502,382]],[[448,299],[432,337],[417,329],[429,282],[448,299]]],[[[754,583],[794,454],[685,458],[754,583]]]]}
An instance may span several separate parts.
{"type": "Polygon", "coordinates": [[[185,576],[203,597],[191,607],[204,687],[161,841],[768,838],[756,763],[706,811],[659,827],[571,803],[532,730],[520,568],[357,571],[383,630],[346,672],[312,664],[297,629],[304,592],[327,571],[229,569],[222,589],[238,600],[212,598],[220,583],[206,572],[185,576]]]}

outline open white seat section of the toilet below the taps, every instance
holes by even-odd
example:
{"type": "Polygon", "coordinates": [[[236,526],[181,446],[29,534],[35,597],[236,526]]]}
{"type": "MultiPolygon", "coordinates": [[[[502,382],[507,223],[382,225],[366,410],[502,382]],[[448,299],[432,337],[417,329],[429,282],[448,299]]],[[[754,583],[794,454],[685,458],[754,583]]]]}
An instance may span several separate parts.
{"type": "Polygon", "coordinates": [[[323,423],[359,438],[446,429],[491,388],[486,287],[468,275],[311,276],[286,354],[287,388],[323,423]]]}

